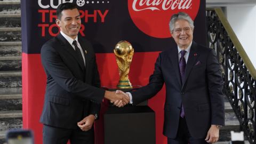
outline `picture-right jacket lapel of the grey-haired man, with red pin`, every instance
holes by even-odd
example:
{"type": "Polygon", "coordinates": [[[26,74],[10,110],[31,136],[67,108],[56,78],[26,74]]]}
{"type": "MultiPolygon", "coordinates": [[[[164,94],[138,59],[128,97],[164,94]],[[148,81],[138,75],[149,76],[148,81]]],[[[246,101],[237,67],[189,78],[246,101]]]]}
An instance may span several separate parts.
{"type": "Polygon", "coordinates": [[[198,49],[197,43],[195,43],[193,41],[192,45],[191,45],[191,49],[189,51],[188,62],[187,62],[187,65],[186,65],[185,76],[184,76],[184,79],[183,79],[183,84],[182,84],[181,89],[183,89],[183,86],[184,86],[184,84],[186,83],[186,81],[188,79],[189,73],[190,73],[191,69],[193,68],[196,59],[199,56],[199,51],[198,50],[199,49],[198,49]]]}

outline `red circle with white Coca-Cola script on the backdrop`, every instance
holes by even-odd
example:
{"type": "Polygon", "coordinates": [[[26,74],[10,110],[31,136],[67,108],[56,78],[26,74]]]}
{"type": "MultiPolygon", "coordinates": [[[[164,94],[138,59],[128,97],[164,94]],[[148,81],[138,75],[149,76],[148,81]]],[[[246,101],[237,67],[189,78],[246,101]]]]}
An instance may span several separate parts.
{"type": "Polygon", "coordinates": [[[196,18],[200,0],[128,0],[129,13],[134,24],[145,34],[157,37],[171,37],[169,21],[180,11],[196,18]]]}

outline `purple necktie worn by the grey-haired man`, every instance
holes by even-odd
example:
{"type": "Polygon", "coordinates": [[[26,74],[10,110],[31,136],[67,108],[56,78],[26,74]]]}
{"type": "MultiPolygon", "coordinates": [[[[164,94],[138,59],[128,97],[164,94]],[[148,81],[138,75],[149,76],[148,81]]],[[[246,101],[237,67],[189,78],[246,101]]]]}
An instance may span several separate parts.
{"type": "MultiPolygon", "coordinates": [[[[179,62],[179,66],[180,66],[180,76],[181,76],[181,84],[183,84],[183,79],[184,79],[184,75],[185,75],[185,69],[186,69],[186,60],[184,58],[184,55],[187,51],[181,51],[181,57],[180,57],[180,62],[179,62]]],[[[185,113],[184,113],[184,108],[183,108],[183,104],[181,103],[181,111],[180,111],[180,116],[183,118],[185,117],[185,113]]]]}

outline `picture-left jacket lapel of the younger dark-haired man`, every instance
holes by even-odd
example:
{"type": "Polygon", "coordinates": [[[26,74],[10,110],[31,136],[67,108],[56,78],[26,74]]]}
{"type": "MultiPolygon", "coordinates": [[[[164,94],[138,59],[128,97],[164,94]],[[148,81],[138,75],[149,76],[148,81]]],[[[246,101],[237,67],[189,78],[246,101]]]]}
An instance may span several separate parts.
{"type": "Polygon", "coordinates": [[[83,65],[84,65],[84,62],[78,59],[78,56],[77,56],[76,51],[75,51],[74,48],[69,44],[69,42],[67,41],[67,39],[66,39],[65,37],[63,37],[63,36],[61,35],[61,33],[59,33],[58,38],[59,38],[59,40],[60,40],[61,45],[65,45],[64,49],[65,49],[66,51],[68,51],[68,52],[76,59],[76,61],[79,63],[79,66],[80,66],[80,67],[83,69],[83,71],[84,71],[84,66],[83,66],[83,65]]]}

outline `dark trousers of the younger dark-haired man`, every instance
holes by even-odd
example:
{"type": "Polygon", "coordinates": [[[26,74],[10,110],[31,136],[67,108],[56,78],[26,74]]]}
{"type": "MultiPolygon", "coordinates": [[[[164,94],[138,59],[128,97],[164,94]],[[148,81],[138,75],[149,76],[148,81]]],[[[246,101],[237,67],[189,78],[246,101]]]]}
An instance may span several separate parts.
{"type": "Polygon", "coordinates": [[[94,126],[85,132],[78,126],[76,130],[70,130],[44,124],[44,144],[67,144],[68,140],[71,144],[94,144],[94,126]]]}

